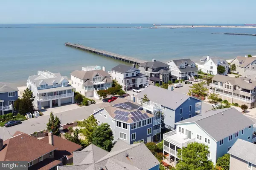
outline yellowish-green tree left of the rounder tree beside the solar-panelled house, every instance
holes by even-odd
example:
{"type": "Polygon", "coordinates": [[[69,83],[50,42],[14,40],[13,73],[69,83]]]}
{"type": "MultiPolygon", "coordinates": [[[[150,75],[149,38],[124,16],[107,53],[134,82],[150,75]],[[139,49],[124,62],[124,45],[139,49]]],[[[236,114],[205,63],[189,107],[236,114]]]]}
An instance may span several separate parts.
{"type": "Polygon", "coordinates": [[[84,119],[83,121],[78,121],[77,126],[84,127],[80,128],[80,133],[84,135],[87,143],[92,143],[93,131],[98,126],[97,119],[93,115],[90,115],[87,119],[84,119]]]}

